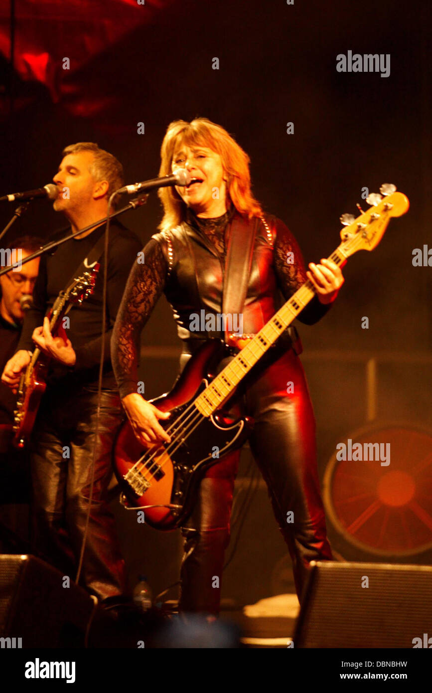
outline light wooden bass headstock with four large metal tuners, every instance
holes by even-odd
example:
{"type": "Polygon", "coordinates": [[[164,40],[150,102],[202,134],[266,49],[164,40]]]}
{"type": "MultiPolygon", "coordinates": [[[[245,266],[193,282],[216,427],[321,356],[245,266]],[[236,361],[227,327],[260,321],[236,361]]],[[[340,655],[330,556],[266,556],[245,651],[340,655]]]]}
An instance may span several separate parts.
{"type": "Polygon", "coordinates": [[[354,218],[352,214],[343,214],[341,223],[342,243],[339,251],[345,258],[357,250],[373,250],[384,236],[384,231],[394,216],[402,216],[409,208],[409,200],[403,193],[396,192],[396,186],[384,183],[379,188],[381,195],[371,193],[366,202],[370,209],[354,218]]]}

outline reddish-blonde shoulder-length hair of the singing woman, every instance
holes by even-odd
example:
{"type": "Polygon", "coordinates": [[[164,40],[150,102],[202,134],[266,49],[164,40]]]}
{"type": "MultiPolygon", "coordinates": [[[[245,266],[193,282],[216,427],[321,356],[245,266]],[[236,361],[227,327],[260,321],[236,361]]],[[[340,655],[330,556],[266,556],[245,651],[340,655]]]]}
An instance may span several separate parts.
{"type": "MultiPolygon", "coordinates": [[[[174,150],[183,143],[189,146],[208,147],[213,152],[217,152],[222,159],[222,167],[227,176],[227,198],[244,216],[251,218],[262,214],[260,203],[251,193],[248,155],[221,125],[216,125],[207,118],[196,118],[190,123],[172,121],[168,125],[161,146],[160,176],[172,173],[174,150]]],[[[174,187],[159,188],[158,195],[164,211],[159,229],[167,231],[184,220],[187,207],[174,187]]]]}

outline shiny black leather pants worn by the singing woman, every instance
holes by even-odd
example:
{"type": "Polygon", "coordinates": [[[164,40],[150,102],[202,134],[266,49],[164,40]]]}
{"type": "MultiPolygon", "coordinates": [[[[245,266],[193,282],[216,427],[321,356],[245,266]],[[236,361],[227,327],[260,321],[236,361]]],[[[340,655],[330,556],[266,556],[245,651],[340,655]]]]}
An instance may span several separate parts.
{"type": "MultiPolygon", "coordinates": [[[[251,371],[231,411],[255,420],[249,444],[291,555],[301,602],[309,562],[331,560],[332,552],[319,489],[314,411],[303,366],[292,349],[282,352],[282,356],[276,349],[270,350],[270,359],[260,363],[259,369],[251,371]],[[294,385],[293,392],[287,392],[291,389],[289,383],[294,385]]],[[[185,360],[183,356],[182,365],[185,360]]],[[[239,457],[239,452],[231,453],[208,470],[192,516],[182,529],[182,611],[219,611],[239,457]]]]}

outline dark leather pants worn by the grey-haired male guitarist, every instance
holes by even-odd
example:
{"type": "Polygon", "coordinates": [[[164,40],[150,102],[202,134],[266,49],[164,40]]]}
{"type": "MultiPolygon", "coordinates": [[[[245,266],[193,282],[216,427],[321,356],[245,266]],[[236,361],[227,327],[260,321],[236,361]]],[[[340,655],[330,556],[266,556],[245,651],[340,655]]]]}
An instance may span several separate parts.
{"type": "MultiPolygon", "coordinates": [[[[35,552],[75,579],[89,508],[97,393],[47,390],[33,433],[35,552]]],[[[114,517],[107,507],[111,448],[121,421],[119,396],[102,391],[94,484],[80,584],[99,599],[127,593],[114,517]]]]}

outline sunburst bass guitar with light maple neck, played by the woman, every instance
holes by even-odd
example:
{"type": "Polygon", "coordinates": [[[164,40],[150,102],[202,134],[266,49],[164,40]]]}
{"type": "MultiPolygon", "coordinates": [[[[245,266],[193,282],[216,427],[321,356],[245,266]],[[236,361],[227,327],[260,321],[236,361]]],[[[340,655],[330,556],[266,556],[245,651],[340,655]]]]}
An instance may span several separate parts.
{"type": "MultiPolygon", "coordinates": [[[[393,216],[401,216],[409,207],[408,198],[384,184],[382,195],[372,193],[366,202],[370,209],[354,218],[343,215],[341,244],[330,255],[343,265],[358,250],[374,249],[393,216]]],[[[235,392],[240,381],[267,352],[314,297],[311,281],[278,310],[253,338],[239,340],[240,351],[216,376],[209,371],[222,358],[222,340],[208,340],[192,356],[173,389],[152,400],[170,419],[159,421],[171,437],[170,443],[145,449],[134,435],[129,421],[118,431],[113,449],[114,471],[120,484],[120,502],[125,507],[143,509],[145,522],[156,529],[175,529],[184,524],[195,502],[202,475],[218,457],[240,447],[251,421],[245,417],[235,423],[224,421],[221,408],[235,392]]]]}

